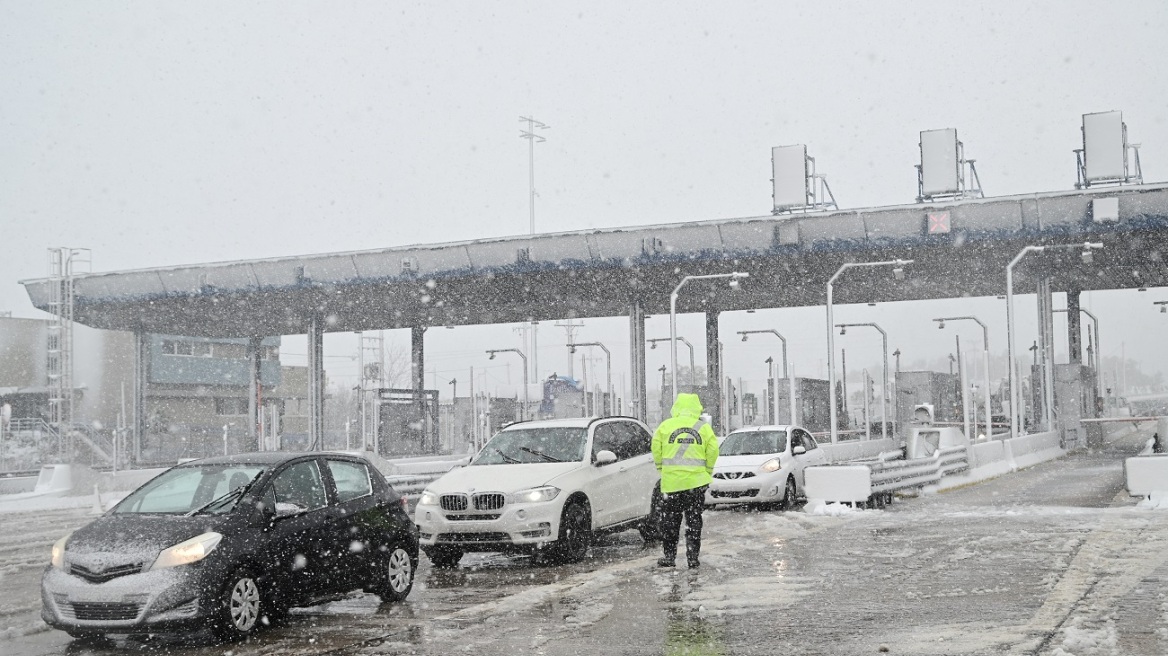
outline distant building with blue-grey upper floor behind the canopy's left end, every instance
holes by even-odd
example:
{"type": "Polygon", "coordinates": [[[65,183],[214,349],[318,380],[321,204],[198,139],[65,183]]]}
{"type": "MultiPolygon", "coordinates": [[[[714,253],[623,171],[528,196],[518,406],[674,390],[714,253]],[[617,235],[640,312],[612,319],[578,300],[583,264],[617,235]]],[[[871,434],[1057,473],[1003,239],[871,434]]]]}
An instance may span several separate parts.
{"type": "MultiPolygon", "coordinates": [[[[50,326],[49,320],[0,317],[0,404],[11,406],[14,426],[50,417],[50,326]]],[[[280,337],[260,342],[257,400],[264,432],[306,432],[307,372],[280,367],[279,346],[280,337]]],[[[229,451],[241,448],[248,434],[246,349],[245,339],[147,337],[144,460],[223,453],[224,434],[229,451]]],[[[133,412],[133,335],[77,324],[72,360],[74,421],[110,444],[119,416],[124,412],[128,424],[133,412]]]]}

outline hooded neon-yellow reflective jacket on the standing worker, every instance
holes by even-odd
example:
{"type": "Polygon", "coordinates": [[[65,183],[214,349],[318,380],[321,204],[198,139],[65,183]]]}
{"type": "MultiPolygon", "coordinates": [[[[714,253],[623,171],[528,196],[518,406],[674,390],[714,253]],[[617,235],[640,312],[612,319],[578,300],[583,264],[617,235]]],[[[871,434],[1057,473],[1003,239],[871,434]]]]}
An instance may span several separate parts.
{"type": "Polygon", "coordinates": [[[697,395],[677,395],[670,414],[653,433],[653,462],[661,472],[661,491],[710,484],[718,459],[718,438],[701,419],[702,402],[697,395]]]}

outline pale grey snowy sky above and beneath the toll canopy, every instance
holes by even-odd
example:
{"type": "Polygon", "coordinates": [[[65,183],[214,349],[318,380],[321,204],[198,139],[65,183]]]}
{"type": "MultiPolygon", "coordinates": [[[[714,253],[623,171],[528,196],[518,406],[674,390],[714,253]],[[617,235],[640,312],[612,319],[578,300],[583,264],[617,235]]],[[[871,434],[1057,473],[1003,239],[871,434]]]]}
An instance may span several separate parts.
{"type": "MultiPolygon", "coordinates": [[[[842,208],[911,202],[918,133],[939,127],[958,130],[987,195],[1070,189],[1080,114],[1106,110],[1142,145],[1145,180],[1168,180],[1168,5],[889,7],[0,0],[0,310],[40,315],[16,280],[44,275],[50,246],[113,271],[524,233],[521,114],[551,126],[536,146],[541,232],[766,215],[770,147],[799,142],[842,208]]],[[[1162,299],[1085,295],[1105,355],[1168,371],[1162,299]]],[[[1029,344],[1033,296],[1018,307],[1029,344]]],[[[1004,351],[994,299],[836,320],[881,323],[908,367],[953,350],[929,321],[953,313],[982,316],[1004,351]]],[[[732,333],[772,327],[797,372],[825,375],[821,309],[723,315],[731,375],[760,378],[779,351],[732,333]]],[[[649,320],[649,336],[667,330],[649,320]]],[[[680,333],[702,364],[700,315],[680,333]]],[[[980,347],[975,326],[961,334],[980,347]]],[[[563,330],[540,335],[541,375],[564,372],[563,330]]],[[[626,321],[586,321],[577,339],[610,343],[627,370],[626,321]]],[[[843,340],[849,365],[878,367],[878,335],[843,340]]],[[[427,383],[461,388],[470,367],[517,382],[517,361],[508,372],[482,354],[515,346],[512,327],[431,330],[427,383]]],[[[294,363],[304,348],[285,351],[294,363]]],[[[333,377],[355,374],[350,337],[326,353],[333,377]]],[[[667,362],[651,351],[651,375],[667,362]]]]}

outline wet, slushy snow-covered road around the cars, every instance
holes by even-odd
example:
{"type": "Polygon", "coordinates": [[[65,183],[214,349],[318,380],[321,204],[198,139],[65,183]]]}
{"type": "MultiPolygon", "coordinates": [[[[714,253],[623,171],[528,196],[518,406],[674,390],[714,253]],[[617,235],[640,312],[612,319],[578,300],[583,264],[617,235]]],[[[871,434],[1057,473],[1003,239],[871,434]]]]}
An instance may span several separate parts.
{"type": "Polygon", "coordinates": [[[6,514],[0,652],[1168,654],[1168,521],[1122,493],[1122,456],[1145,439],[1125,435],[883,511],[707,512],[697,572],[656,568],[635,532],[571,566],[423,559],[404,605],[359,595],[229,647],[44,629],[49,545],[91,509],[6,514]]]}

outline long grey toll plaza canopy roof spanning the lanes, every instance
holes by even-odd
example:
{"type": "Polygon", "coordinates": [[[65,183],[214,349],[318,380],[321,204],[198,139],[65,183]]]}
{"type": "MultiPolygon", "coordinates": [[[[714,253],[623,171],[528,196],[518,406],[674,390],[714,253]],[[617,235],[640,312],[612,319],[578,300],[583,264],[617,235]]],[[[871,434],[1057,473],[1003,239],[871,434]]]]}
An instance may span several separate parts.
{"type": "MultiPolygon", "coordinates": [[[[95,328],[208,337],[666,313],[686,275],[743,271],[741,288],[694,281],[679,312],[826,302],[843,263],[912,259],[904,280],[855,268],[837,303],[1000,295],[1028,245],[1101,242],[1027,257],[1017,291],[1168,284],[1168,184],[830,212],[679,222],[250,261],[89,273],[74,278],[74,319],[95,328]],[[704,293],[703,293],[704,291],[704,293]]],[[[49,310],[53,279],[23,280],[49,310]]]]}

